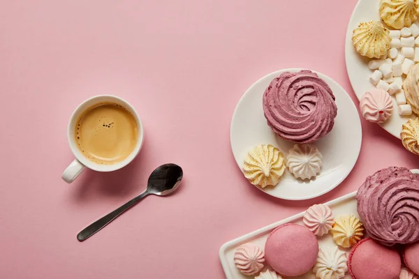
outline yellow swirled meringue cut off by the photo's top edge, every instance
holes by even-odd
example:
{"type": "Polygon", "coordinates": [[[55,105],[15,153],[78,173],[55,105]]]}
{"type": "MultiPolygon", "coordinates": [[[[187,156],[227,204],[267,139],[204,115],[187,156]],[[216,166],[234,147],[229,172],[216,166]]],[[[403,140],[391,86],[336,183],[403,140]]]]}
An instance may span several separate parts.
{"type": "Polygon", "coordinates": [[[418,20],[419,0],[381,0],[380,16],[394,29],[410,27],[418,20]]]}

